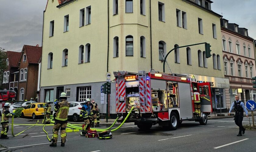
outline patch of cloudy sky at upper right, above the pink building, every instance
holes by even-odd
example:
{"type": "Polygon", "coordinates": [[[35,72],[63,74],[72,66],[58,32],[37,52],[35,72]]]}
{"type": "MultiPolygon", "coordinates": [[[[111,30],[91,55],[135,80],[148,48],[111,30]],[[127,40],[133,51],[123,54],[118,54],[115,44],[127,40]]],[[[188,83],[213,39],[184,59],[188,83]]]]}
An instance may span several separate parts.
{"type": "Polygon", "coordinates": [[[239,27],[248,29],[248,35],[256,39],[256,13],[255,0],[213,0],[212,10],[229,23],[236,23],[239,27]]]}

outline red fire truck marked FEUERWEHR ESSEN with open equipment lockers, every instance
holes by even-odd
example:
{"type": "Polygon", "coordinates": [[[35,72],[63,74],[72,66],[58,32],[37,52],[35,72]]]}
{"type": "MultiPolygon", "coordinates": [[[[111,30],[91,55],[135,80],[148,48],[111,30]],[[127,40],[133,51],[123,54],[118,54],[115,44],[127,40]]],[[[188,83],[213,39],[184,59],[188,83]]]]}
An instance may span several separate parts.
{"type": "Polygon", "coordinates": [[[114,76],[116,113],[124,119],[134,107],[126,122],[134,122],[143,130],[156,124],[176,130],[183,121],[207,124],[212,112],[209,82],[198,83],[184,74],[167,74],[153,69],[138,73],[118,71],[114,76]],[[200,116],[195,113],[193,88],[200,93],[200,116]]]}

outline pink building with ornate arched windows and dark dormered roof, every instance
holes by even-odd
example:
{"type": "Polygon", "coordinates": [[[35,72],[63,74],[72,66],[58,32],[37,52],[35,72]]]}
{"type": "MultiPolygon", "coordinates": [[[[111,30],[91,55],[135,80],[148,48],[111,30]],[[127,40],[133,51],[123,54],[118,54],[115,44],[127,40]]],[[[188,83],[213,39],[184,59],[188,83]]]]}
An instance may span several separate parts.
{"type": "Polygon", "coordinates": [[[254,39],[248,36],[248,30],[239,28],[235,23],[221,19],[222,52],[225,78],[229,79],[230,88],[223,90],[226,97],[226,108],[229,109],[239,95],[242,102],[256,101],[256,88],[252,78],[256,76],[254,39]]]}

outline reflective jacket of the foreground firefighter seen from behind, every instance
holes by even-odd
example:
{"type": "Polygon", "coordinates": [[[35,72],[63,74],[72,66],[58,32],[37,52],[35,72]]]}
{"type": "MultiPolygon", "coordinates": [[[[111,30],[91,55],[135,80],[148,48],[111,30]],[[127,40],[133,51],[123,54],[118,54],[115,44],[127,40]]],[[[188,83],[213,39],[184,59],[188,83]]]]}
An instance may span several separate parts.
{"type": "Polygon", "coordinates": [[[63,122],[67,121],[68,119],[68,113],[69,113],[69,102],[66,100],[61,100],[61,102],[58,102],[55,104],[54,111],[56,112],[55,121],[57,122],[63,122]]]}

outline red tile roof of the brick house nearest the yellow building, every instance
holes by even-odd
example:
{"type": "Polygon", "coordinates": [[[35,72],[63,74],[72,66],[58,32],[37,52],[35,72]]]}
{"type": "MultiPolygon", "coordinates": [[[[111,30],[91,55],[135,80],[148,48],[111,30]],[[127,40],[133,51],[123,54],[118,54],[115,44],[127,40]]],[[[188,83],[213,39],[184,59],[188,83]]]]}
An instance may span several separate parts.
{"type": "Polygon", "coordinates": [[[24,45],[23,49],[26,51],[28,63],[39,63],[39,60],[42,56],[42,47],[24,45]]]}

